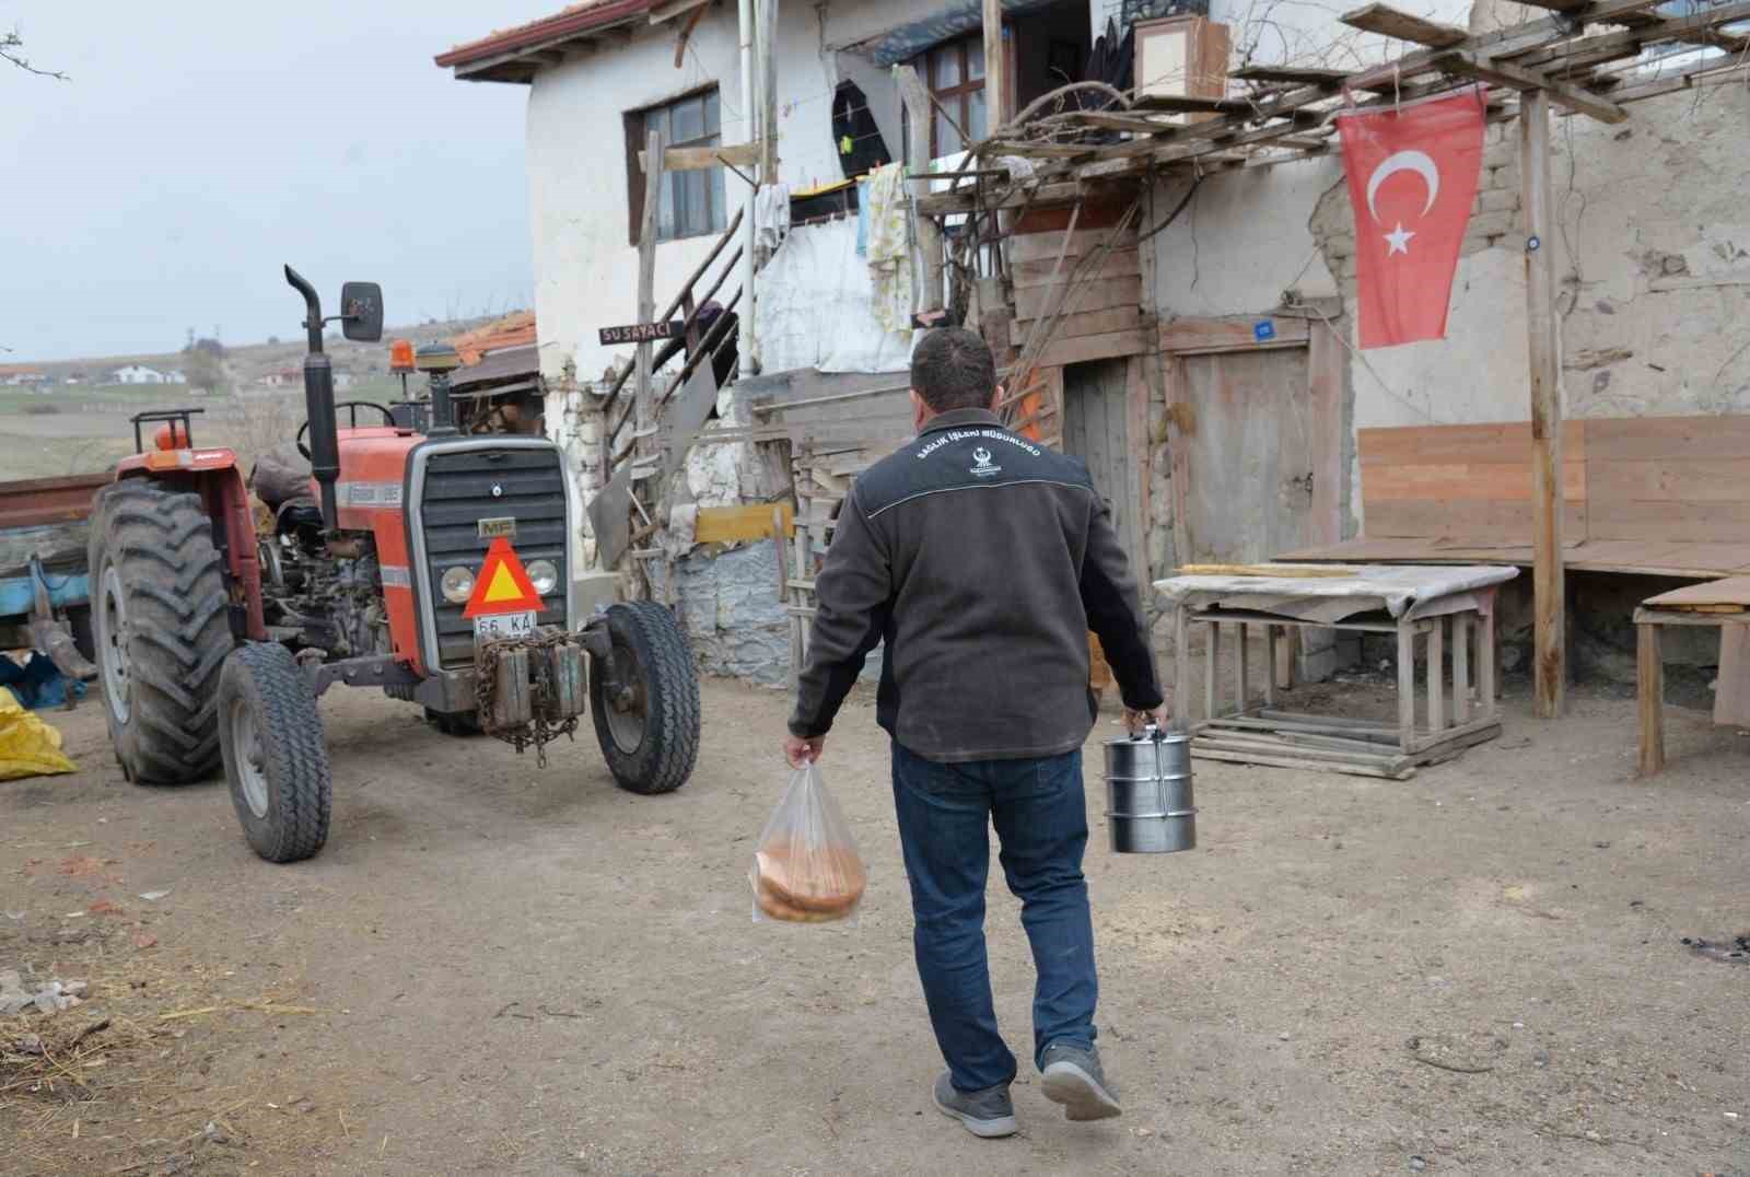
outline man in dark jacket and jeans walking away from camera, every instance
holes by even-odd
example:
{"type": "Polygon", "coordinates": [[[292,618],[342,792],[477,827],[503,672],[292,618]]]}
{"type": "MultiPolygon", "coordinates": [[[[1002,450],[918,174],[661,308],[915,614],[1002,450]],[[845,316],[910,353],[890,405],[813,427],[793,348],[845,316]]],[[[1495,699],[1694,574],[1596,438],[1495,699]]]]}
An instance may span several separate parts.
{"type": "Polygon", "coordinates": [[[959,328],[912,357],[919,436],[864,471],[817,583],[784,751],[817,758],[863,660],[886,641],[877,722],[912,883],[936,1044],[934,1102],[980,1137],[1015,1131],[1015,1056],[998,1033],[984,916],[989,827],[1022,900],[1038,988],[1032,1060],[1069,1119],[1120,1112],[1094,1046],[1094,925],[1082,851],[1087,631],[1132,730],[1166,720],[1136,581],[1087,466],[1001,427],[990,349],[959,328]]]}

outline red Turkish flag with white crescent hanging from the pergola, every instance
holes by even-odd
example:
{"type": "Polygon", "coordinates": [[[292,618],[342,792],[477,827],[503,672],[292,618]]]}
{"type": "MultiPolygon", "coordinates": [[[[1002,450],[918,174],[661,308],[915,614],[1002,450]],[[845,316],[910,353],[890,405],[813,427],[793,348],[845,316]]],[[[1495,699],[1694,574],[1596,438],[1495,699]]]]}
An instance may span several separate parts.
{"type": "Polygon", "coordinates": [[[1337,116],[1354,207],[1362,347],[1446,338],[1482,173],[1482,88],[1337,116]]]}

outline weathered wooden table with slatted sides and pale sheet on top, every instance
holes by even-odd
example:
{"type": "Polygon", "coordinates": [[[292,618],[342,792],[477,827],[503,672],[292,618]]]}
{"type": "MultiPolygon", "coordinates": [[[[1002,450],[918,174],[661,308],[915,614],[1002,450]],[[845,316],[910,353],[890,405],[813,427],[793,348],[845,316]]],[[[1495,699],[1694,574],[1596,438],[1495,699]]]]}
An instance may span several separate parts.
{"type": "MultiPolygon", "coordinates": [[[[1440,569],[1437,569],[1440,571],[1440,569]]],[[[1454,569],[1444,569],[1454,571],[1454,569]]],[[[1503,569],[1503,578],[1510,576],[1503,569]]],[[[1164,592],[1204,578],[1178,578],[1158,581],[1164,592]]],[[[1320,585],[1321,596],[1334,587],[1320,585]]],[[[1494,676],[1494,594],[1496,585],[1468,585],[1452,592],[1432,592],[1402,608],[1393,617],[1386,608],[1358,611],[1340,620],[1290,617],[1270,608],[1234,608],[1234,599],[1246,596],[1248,585],[1232,583],[1223,588],[1227,604],[1208,604],[1185,597],[1174,603],[1174,725],[1194,736],[1192,755],[1209,760],[1237,760],[1279,767],[1314,769],[1325,772],[1351,772],[1360,776],[1386,776],[1404,779],[1414,776],[1418,765],[1456,757],[1466,746],[1493,739],[1502,723],[1496,711],[1494,676]],[[1202,697],[1204,718],[1192,722],[1190,631],[1208,627],[1204,643],[1202,697]],[[1272,673],[1272,652],[1281,636],[1295,627],[1337,629],[1360,634],[1391,634],[1398,648],[1398,718],[1396,723],[1306,715],[1276,708],[1278,676],[1272,673]],[[1232,674],[1227,683],[1222,673],[1223,632],[1232,643],[1232,674]],[[1262,674],[1251,674],[1248,634],[1264,636],[1262,674]],[[1426,657],[1423,678],[1426,699],[1418,708],[1418,638],[1424,639],[1426,657]],[[1451,653],[1451,676],[1447,655],[1451,653]],[[1253,685],[1256,683],[1256,690],[1253,685]],[[1475,685],[1475,706],[1472,687],[1475,685]],[[1258,706],[1262,702],[1262,706],[1258,706]],[[1421,711],[1421,715],[1418,715],[1421,711]]],[[[1211,590],[1194,596],[1209,596],[1211,590]]],[[[1256,596],[1281,597],[1279,578],[1260,578],[1256,596]]],[[[1368,594],[1356,590],[1362,603],[1368,594]]]]}

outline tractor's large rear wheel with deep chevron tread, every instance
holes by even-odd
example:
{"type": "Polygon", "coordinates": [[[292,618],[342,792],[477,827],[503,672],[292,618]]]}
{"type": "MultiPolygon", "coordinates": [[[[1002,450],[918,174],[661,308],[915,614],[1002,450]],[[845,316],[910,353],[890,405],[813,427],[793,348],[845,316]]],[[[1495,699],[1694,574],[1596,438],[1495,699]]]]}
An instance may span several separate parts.
{"type": "Polygon", "coordinates": [[[122,774],[142,785],[212,776],[219,667],[234,639],[201,497],[144,478],[103,487],[88,567],[103,715],[122,774]]]}

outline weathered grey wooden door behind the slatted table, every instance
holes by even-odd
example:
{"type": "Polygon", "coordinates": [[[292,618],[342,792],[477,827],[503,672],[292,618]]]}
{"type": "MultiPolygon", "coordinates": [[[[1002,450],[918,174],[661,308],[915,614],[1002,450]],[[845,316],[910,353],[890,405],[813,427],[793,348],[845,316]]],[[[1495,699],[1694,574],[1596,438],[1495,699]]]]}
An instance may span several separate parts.
{"type": "MultiPolygon", "coordinates": [[[[1185,356],[1188,478],[1181,564],[1256,564],[1316,541],[1321,417],[1307,349],[1185,356]],[[1318,471],[1318,473],[1314,473],[1318,471]]],[[[1323,490],[1323,489],[1321,489],[1323,490]]]]}

